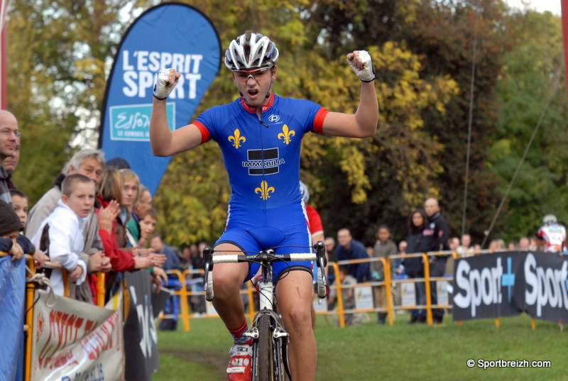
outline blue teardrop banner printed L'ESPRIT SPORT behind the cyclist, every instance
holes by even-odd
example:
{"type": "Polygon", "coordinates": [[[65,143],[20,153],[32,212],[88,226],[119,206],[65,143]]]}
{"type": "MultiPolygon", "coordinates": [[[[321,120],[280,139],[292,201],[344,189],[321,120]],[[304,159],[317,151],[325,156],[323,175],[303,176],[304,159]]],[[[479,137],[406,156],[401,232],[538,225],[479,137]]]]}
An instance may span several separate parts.
{"type": "Polygon", "coordinates": [[[219,35],[200,11],[168,3],[144,12],[124,34],[107,82],[99,133],[107,160],[126,159],[155,194],[171,159],[150,148],[155,74],[170,67],[182,74],[166,104],[175,130],[190,123],[220,66],[219,35]]]}

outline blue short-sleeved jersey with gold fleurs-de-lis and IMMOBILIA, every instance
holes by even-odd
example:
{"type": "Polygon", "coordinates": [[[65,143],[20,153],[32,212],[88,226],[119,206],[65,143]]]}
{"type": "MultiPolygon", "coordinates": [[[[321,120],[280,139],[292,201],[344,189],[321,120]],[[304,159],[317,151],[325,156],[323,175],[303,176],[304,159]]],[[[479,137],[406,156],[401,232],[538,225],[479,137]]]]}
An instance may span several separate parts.
{"type": "Polygon", "coordinates": [[[236,99],[205,111],[193,122],[202,143],[222,150],[231,185],[229,210],[273,209],[300,203],[300,148],[307,132],[322,133],[327,110],[312,101],[271,94],[256,108],[236,99]]]}

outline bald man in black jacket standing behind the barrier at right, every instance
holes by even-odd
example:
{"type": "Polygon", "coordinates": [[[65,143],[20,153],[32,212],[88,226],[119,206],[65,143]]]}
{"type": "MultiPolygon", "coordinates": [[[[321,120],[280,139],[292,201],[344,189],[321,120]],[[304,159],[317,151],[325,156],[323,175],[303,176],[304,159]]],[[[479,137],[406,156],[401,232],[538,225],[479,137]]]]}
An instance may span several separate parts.
{"type": "MultiPolygon", "coordinates": [[[[432,223],[434,223],[432,234],[434,235],[435,238],[435,240],[432,241],[432,246],[428,248],[428,250],[425,250],[425,252],[449,250],[449,245],[448,245],[449,225],[446,219],[444,219],[444,217],[442,217],[442,215],[439,212],[438,200],[434,198],[426,199],[424,203],[424,208],[428,216],[428,221],[430,222],[430,226],[432,223]]],[[[430,228],[426,229],[426,232],[429,230],[430,228]]],[[[461,244],[464,245],[463,242],[461,244]]],[[[446,273],[448,257],[449,255],[432,255],[430,257],[430,277],[444,276],[444,274],[446,273]]],[[[438,296],[437,296],[436,282],[432,281],[430,285],[432,286],[430,287],[432,304],[437,304],[438,296]]],[[[432,318],[434,319],[435,323],[441,324],[442,320],[444,319],[444,309],[441,308],[432,309],[432,318]]]]}

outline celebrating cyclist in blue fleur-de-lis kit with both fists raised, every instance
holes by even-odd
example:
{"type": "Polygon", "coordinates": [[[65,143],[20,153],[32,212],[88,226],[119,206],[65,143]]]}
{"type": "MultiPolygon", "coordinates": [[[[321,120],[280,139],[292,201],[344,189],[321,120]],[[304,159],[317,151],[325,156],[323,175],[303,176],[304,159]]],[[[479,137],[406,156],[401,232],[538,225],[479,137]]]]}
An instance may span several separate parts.
{"type": "MultiPolygon", "coordinates": [[[[278,49],[267,36],[252,31],[231,41],[224,63],[241,96],[205,111],[187,126],[170,131],[166,101],[180,78],[160,70],[154,87],[150,140],[154,155],[169,156],[215,140],[224,155],[231,185],[226,230],[214,244],[219,254],[258,252],[279,245],[307,246],[310,233],[302,206],[300,146],[305,133],[366,138],[376,132],[378,103],[371,57],[363,50],[347,56],[361,79],[355,114],[330,112],[311,101],[282,98],[272,92],[278,74],[278,49]]],[[[293,253],[297,248],[279,248],[293,253]]],[[[317,349],[310,324],[311,263],[275,263],[276,298],[290,333],[290,368],[295,381],[315,380],[317,349]]],[[[213,301],[234,338],[227,368],[230,381],[250,380],[251,341],[247,331],[241,284],[258,270],[246,263],[213,268],[213,301]]]]}

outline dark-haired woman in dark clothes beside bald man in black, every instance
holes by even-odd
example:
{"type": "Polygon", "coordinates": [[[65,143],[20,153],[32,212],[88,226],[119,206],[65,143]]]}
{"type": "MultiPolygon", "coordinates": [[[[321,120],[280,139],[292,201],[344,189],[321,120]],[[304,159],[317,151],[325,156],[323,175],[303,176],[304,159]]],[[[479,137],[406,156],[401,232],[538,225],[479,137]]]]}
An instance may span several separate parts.
{"type": "MultiPolygon", "coordinates": [[[[428,228],[428,217],[424,209],[416,209],[410,214],[408,219],[408,247],[406,251],[409,254],[426,253],[432,248],[432,243],[436,242],[436,238],[432,234],[432,230],[428,228]]],[[[421,257],[404,258],[403,261],[406,275],[409,278],[424,277],[424,263],[421,257]]],[[[416,304],[426,304],[426,291],[424,282],[415,282],[416,304]]],[[[409,324],[424,323],[426,321],[426,311],[424,309],[413,309],[410,311],[409,324]]]]}

